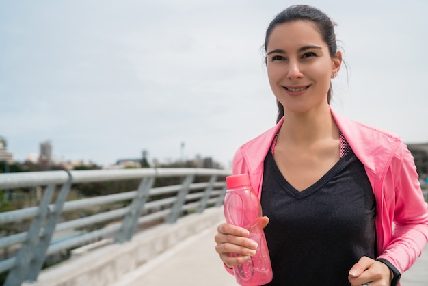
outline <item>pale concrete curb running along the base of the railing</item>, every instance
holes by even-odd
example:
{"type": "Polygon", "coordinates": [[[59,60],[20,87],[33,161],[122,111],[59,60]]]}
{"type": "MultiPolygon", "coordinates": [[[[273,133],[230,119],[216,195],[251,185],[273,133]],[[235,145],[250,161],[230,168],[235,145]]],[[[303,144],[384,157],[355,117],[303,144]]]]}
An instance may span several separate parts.
{"type": "Polygon", "coordinates": [[[175,224],[161,224],[134,235],[131,242],[111,244],[74,257],[43,270],[35,283],[25,286],[105,286],[120,281],[127,274],[184,239],[223,220],[222,208],[206,209],[180,218],[175,224]]]}

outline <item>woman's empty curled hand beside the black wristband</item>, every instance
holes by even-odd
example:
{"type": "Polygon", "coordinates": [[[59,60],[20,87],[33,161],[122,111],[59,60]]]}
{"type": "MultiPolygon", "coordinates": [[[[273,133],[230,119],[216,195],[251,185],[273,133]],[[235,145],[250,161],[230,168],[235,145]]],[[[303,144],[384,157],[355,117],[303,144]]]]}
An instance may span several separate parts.
{"type": "Polygon", "coordinates": [[[389,286],[392,272],[385,263],[363,256],[349,270],[348,279],[352,286],[364,283],[369,283],[370,286],[389,286]]]}

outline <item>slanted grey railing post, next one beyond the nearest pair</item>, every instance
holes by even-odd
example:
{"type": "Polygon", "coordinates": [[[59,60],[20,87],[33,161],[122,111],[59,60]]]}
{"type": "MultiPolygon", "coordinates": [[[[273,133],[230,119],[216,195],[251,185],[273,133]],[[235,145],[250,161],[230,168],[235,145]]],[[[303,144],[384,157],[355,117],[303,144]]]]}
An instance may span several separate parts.
{"type": "Polygon", "coordinates": [[[131,207],[129,207],[129,213],[122,222],[120,231],[114,239],[115,242],[122,243],[131,239],[153,183],[155,183],[155,176],[144,178],[139,183],[137,194],[131,203],[131,207]]]}

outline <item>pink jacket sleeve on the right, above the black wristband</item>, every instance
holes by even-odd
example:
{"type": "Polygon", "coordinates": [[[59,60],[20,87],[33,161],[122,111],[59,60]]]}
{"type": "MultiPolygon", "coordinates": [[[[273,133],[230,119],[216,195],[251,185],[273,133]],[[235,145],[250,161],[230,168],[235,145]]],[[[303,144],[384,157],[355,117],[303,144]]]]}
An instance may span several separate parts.
{"type": "Polygon", "coordinates": [[[385,176],[384,199],[394,229],[389,244],[378,258],[385,259],[403,273],[413,265],[428,242],[428,209],[414,159],[402,142],[385,176]]]}

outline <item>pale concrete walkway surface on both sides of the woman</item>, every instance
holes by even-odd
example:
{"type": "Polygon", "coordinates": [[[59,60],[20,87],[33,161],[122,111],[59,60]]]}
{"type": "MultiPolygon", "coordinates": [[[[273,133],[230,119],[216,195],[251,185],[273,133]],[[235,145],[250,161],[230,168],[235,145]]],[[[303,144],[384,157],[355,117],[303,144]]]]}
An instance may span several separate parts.
{"type": "MultiPolygon", "coordinates": [[[[223,220],[218,209],[219,223],[223,220]]],[[[189,237],[174,248],[131,272],[115,286],[236,286],[215,252],[216,226],[189,237]]],[[[403,274],[402,286],[428,285],[428,246],[412,268],[403,274]]]]}

